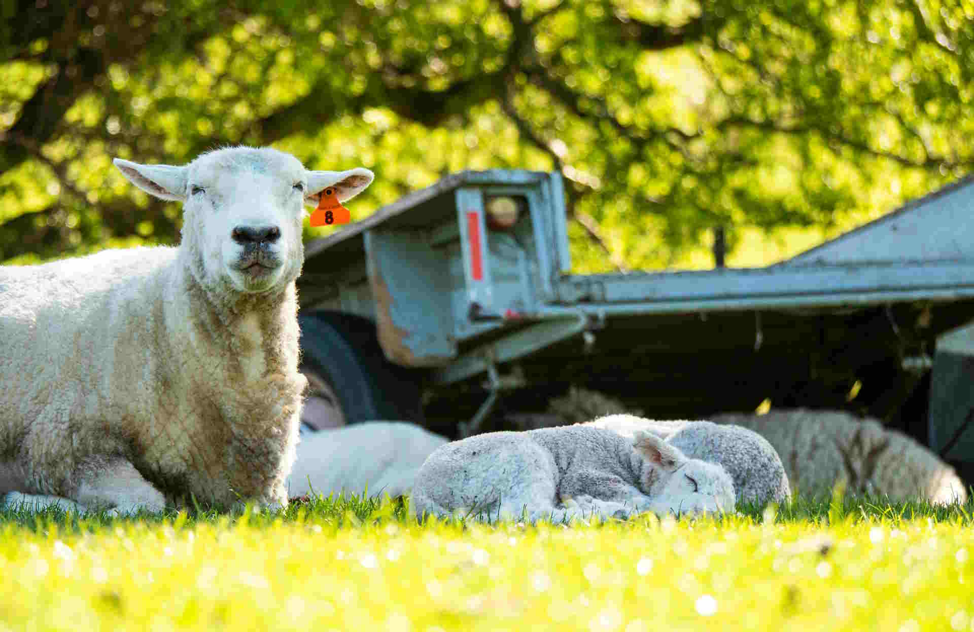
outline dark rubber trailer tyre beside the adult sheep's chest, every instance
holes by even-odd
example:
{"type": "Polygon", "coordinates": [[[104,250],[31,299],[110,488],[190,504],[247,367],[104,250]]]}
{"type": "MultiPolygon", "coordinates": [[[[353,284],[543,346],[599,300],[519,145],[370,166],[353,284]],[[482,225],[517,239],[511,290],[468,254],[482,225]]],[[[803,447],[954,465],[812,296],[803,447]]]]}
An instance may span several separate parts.
{"type": "Polygon", "coordinates": [[[330,387],[345,424],[423,422],[418,376],[394,365],[379,346],[368,318],[316,310],[298,315],[302,370],[330,387]]]}

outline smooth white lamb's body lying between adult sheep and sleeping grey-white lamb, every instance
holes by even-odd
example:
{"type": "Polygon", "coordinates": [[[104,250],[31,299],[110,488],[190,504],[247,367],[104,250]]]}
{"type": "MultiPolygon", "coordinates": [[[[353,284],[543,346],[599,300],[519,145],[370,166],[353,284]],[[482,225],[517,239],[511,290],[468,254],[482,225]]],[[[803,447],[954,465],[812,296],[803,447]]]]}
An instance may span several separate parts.
{"type": "Polygon", "coordinates": [[[288,494],[409,494],[444,436],[407,422],[366,422],[301,435],[288,494]]]}

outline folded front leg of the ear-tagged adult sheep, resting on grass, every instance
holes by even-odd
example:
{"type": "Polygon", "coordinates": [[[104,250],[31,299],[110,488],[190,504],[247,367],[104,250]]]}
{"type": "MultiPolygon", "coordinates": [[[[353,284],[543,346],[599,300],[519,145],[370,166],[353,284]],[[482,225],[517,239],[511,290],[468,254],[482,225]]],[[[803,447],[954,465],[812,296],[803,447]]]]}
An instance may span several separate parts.
{"type": "Polygon", "coordinates": [[[132,513],[139,509],[162,511],[166,497],[152,483],[142,478],[126,459],[98,460],[79,472],[74,500],[90,509],[108,509],[112,514],[132,513]]]}

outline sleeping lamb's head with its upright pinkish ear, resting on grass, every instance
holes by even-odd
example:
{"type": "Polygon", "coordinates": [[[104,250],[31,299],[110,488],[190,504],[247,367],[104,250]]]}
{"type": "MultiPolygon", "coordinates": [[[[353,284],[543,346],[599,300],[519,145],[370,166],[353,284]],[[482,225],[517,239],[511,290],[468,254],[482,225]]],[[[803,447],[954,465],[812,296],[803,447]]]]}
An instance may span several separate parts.
{"type": "Polygon", "coordinates": [[[637,430],[633,447],[645,460],[640,488],[676,513],[732,512],[731,476],[721,465],[688,459],[676,446],[656,434],[637,430]]]}

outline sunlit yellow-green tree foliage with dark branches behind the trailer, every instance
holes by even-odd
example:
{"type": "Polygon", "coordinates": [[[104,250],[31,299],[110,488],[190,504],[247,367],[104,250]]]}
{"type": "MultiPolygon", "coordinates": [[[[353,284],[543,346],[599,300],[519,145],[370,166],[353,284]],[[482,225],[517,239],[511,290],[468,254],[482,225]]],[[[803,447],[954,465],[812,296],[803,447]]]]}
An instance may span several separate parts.
{"type": "MultiPolygon", "coordinates": [[[[558,168],[577,268],[838,229],[974,165],[971,0],[0,0],[0,261],[174,242],[121,156],[558,168]]],[[[309,235],[318,229],[308,229],[309,235]]],[[[732,260],[732,258],[731,258],[732,260]]]]}

